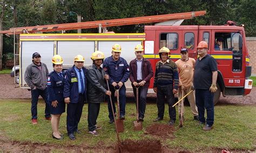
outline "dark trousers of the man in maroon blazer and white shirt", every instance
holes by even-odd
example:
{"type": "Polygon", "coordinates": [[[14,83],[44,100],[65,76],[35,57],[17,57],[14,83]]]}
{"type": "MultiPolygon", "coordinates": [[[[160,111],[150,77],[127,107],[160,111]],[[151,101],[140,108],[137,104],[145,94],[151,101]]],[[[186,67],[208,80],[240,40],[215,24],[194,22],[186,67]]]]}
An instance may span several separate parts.
{"type": "MultiPolygon", "coordinates": [[[[136,88],[133,86],[132,89],[133,89],[135,101],[137,102],[136,88]]],[[[149,89],[149,87],[139,87],[139,94],[138,94],[139,117],[142,117],[142,118],[144,118],[145,109],[146,109],[147,89],[149,89]]],[[[137,109],[137,103],[136,103],[136,109],[137,109]]]]}

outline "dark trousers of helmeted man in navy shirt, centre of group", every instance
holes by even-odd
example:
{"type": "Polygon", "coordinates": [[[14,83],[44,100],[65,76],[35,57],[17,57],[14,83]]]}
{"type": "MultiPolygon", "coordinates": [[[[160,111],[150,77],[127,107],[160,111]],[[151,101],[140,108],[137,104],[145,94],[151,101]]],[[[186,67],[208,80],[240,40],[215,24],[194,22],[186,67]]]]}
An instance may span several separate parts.
{"type": "MultiPolygon", "coordinates": [[[[113,102],[113,108],[114,108],[114,114],[116,114],[116,106],[114,105],[114,87],[112,85],[110,85],[110,91],[111,91],[111,99],[113,102]]],[[[119,104],[120,104],[120,116],[124,116],[125,115],[125,103],[126,103],[126,88],[125,85],[123,85],[120,89],[119,89],[119,104]]],[[[109,108],[109,119],[113,120],[113,113],[112,113],[112,108],[111,108],[111,104],[110,104],[110,98],[109,96],[107,96],[107,107],[109,108]]]]}

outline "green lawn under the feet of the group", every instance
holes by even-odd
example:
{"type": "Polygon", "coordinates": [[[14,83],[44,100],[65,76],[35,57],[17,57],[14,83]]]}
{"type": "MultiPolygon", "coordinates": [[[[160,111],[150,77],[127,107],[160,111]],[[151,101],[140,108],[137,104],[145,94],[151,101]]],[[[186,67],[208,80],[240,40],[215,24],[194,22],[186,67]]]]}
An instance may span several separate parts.
{"type": "MultiPolygon", "coordinates": [[[[84,106],[82,119],[79,129],[82,134],[77,136],[76,141],[69,140],[66,135],[66,113],[60,119],[60,132],[65,134],[64,141],[56,141],[51,137],[51,123],[44,120],[44,102],[38,103],[38,124],[31,124],[30,100],[0,100],[0,140],[1,137],[12,141],[54,144],[60,147],[77,145],[93,148],[110,147],[116,144],[116,134],[113,124],[109,124],[106,103],[100,106],[98,124],[103,127],[99,130],[99,136],[95,137],[88,134],[87,129],[87,104],[84,106]],[[4,110],[4,111],[3,111],[4,110]],[[100,144],[100,145],[99,145],[100,144]]],[[[178,128],[174,139],[161,140],[161,144],[170,149],[203,151],[211,149],[241,149],[255,150],[256,144],[256,107],[255,106],[236,106],[236,105],[217,105],[215,106],[214,128],[211,131],[203,131],[201,126],[193,121],[190,107],[185,107],[185,125],[178,128]]],[[[121,140],[142,140],[154,138],[145,135],[146,127],[153,124],[152,120],[157,117],[156,104],[148,104],[146,107],[144,129],[133,131],[133,121],[136,113],[134,103],[126,105],[126,120],[124,123],[125,131],[120,134],[121,140]]],[[[169,121],[167,105],[165,107],[164,120],[161,124],[169,121]]]]}

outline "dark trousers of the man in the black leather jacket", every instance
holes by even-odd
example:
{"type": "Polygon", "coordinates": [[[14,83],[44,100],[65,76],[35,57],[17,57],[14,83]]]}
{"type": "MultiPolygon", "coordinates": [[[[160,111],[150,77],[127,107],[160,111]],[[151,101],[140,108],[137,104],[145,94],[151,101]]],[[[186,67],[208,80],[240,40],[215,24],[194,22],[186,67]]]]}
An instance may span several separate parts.
{"type": "Polygon", "coordinates": [[[97,118],[99,115],[100,103],[88,103],[88,128],[89,131],[96,130],[97,118]]]}

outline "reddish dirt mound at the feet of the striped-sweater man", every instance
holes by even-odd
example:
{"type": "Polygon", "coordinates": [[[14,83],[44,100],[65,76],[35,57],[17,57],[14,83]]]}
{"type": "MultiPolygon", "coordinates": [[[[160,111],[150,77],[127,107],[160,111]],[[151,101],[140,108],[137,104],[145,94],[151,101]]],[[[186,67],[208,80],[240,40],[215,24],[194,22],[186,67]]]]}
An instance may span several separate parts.
{"type": "Polygon", "coordinates": [[[154,135],[160,138],[174,138],[174,129],[173,126],[168,126],[167,124],[153,124],[150,127],[146,128],[145,134],[154,135]]]}

